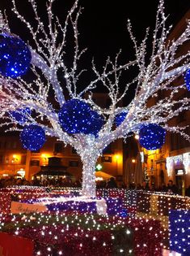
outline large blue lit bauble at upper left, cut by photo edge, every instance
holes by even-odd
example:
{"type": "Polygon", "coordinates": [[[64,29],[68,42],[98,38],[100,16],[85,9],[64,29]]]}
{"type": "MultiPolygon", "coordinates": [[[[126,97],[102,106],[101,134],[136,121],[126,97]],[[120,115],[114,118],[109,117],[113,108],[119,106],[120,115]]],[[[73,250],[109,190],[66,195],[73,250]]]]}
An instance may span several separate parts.
{"type": "Polygon", "coordinates": [[[18,37],[0,34],[0,73],[16,78],[27,72],[32,55],[27,45],[18,37]]]}

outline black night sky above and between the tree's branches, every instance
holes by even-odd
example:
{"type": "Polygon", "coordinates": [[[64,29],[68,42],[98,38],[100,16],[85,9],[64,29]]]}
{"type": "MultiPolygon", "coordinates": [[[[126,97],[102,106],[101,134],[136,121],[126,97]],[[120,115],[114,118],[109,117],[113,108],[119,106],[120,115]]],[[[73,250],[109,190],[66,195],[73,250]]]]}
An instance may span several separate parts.
{"type": "MultiPolygon", "coordinates": [[[[27,1],[17,0],[16,2],[18,2],[21,13],[27,16],[27,20],[31,20],[32,12],[28,8],[27,1]]],[[[36,2],[40,13],[44,15],[46,1],[37,0],[36,2]]],[[[61,20],[64,20],[66,11],[68,11],[73,2],[71,0],[57,0],[55,2],[55,12],[61,20]]],[[[120,49],[122,49],[121,64],[134,59],[133,44],[129,39],[129,33],[126,28],[128,18],[133,24],[133,32],[138,41],[141,41],[144,37],[147,27],[154,29],[155,14],[158,6],[158,1],[156,0],[80,0],[79,4],[84,7],[78,27],[80,45],[88,48],[87,54],[82,59],[82,67],[91,66],[91,58],[93,56],[97,66],[101,67],[108,55],[114,58],[120,49]]],[[[190,2],[189,0],[166,0],[165,7],[167,15],[170,14],[168,24],[176,24],[190,8],[190,2]]],[[[0,9],[7,10],[7,15],[11,18],[12,32],[27,41],[26,28],[22,27],[19,21],[15,21],[14,15],[11,15],[11,0],[1,0],[0,9]]],[[[68,42],[72,46],[70,37],[68,42]]],[[[70,55],[67,58],[69,63],[70,55]]],[[[83,77],[84,84],[90,76],[83,77]]]]}

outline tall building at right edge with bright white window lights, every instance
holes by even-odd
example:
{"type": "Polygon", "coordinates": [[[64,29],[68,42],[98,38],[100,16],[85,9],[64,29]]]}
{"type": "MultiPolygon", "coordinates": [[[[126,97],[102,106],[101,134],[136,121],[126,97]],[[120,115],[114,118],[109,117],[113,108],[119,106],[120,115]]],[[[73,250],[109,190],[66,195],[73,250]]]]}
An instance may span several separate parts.
{"type": "MultiPolygon", "coordinates": [[[[190,10],[184,15],[183,19],[172,30],[168,40],[178,38],[183,33],[186,20],[190,19],[190,10]]],[[[190,42],[180,47],[178,55],[185,54],[190,49],[190,42]]],[[[183,84],[184,78],[179,77],[173,82],[173,85],[183,84]]],[[[181,89],[176,94],[176,98],[190,98],[188,89],[181,89]]],[[[150,98],[148,104],[154,105],[158,99],[166,98],[167,92],[158,92],[158,98],[150,98]]],[[[179,106],[176,106],[179,107],[179,106]]],[[[173,108],[175,111],[175,108],[173,108]]],[[[183,111],[179,116],[171,119],[168,123],[170,126],[188,126],[190,125],[190,111],[183,111]]],[[[185,130],[190,135],[190,128],[185,130]]],[[[139,150],[144,154],[144,161],[141,163],[143,167],[143,179],[154,183],[156,187],[161,184],[168,183],[168,180],[178,186],[179,193],[183,193],[185,188],[190,185],[190,142],[185,140],[184,137],[178,133],[167,132],[166,143],[159,150],[145,150],[138,145],[139,150]]]]}

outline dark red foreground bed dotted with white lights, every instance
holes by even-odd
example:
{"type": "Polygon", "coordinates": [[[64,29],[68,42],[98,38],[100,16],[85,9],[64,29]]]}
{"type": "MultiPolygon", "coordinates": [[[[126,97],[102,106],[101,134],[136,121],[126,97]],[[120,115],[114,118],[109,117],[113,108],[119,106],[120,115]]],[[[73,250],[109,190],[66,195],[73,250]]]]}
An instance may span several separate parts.
{"type": "Polygon", "coordinates": [[[2,217],[1,231],[35,241],[35,255],[140,256],[162,251],[160,224],[151,219],[73,213],[9,215],[2,217]]]}

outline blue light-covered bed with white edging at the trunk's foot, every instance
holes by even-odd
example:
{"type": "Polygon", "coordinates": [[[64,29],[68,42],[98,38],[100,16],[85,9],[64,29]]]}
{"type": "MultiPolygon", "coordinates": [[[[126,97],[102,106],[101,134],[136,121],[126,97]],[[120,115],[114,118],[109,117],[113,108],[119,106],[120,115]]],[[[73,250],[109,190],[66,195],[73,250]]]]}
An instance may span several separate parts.
{"type": "MultiPolygon", "coordinates": [[[[89,199],[86,197],[65,197],[65,195],[58,195],[53,197],[39,197],[37,199],[19,200],[19,206],[24,206],[26,213],[30,210],[30,206],[46,206],[46,210],[43,211],[63,211],[63,212],[75,212],[78,214],[98,214],[98,215],[113,215],[113,216],[127,216],[127,210],[124,207],[123,200],[120,198],[97,198],[89,199]],[[27,204],[27,207],[25,207],[27,204]]],[[[41,211],[41,210],[40,210],[41,211]]],[[[13,211],[12,211],[13,212],[13,211]]],[[[24,212],[24,209],[23,211],[24,212]]],[[[16,212],[13,212],[16,213],[16,212]]]]}

